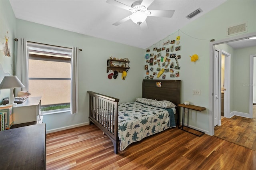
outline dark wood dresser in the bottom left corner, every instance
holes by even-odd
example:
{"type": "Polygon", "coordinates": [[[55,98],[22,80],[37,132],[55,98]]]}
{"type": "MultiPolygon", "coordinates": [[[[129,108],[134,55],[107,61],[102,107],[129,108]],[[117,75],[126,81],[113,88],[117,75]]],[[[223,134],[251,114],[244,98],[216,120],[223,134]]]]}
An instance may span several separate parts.
{"type": "Polygon", "coordinates": [[[1,170],[45,170],[45,123],[0,131],[1,170]]]}

